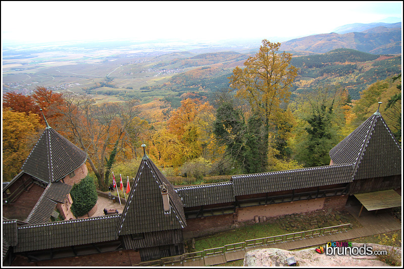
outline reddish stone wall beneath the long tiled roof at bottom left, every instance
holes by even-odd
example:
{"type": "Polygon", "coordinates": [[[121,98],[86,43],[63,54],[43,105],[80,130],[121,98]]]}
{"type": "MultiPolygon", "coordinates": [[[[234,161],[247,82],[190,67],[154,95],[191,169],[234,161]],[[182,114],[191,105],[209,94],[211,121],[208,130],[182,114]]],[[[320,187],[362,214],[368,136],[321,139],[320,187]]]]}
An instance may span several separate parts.
{"type": "Polygon", "coordinates": [[[135,250],[112,251],[85,256],[28,262],[28,258],[18,255],[11,266],[131,266],[141,262],[140,253],[135,250]]]}

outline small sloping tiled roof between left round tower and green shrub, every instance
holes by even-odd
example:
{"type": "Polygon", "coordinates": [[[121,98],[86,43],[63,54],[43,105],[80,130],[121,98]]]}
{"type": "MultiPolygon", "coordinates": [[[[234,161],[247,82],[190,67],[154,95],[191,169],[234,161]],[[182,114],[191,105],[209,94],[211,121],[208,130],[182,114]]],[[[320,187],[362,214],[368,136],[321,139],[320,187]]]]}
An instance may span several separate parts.
{"type": "Polygon", "coordinates": [[[72,186],[62,182],[49,183],[29,213],[26,222],[29,224],[49,222],[56,205],[67,200],[71,189],[72,186]]]}

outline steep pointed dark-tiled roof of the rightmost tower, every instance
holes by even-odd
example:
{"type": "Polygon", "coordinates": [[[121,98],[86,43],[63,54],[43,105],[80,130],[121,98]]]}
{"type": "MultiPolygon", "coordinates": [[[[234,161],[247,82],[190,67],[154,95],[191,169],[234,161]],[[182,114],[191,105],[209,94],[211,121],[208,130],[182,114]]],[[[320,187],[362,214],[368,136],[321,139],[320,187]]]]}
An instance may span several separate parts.
{"type": "Polygon", "coordinates": [[[352,163],[355,179],[401,175],[401,147],[379,110],[329,152],[334,164],[352,163]]]}

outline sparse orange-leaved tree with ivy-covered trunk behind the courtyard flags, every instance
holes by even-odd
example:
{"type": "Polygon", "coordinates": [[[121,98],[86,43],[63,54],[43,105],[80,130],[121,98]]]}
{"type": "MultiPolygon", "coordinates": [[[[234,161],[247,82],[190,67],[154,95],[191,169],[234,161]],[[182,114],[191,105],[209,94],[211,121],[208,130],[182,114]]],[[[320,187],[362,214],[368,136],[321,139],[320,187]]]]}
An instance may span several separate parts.
{"type": "Polygon", "coordinates": [[[107,190],[110,173],[107,163],[115,158],[111,153],[114,148],[118,153],[132,148],[133,145],[128,143],[136,140],[139,133],[137,100],[96,104],[87,95],[67,94],[63,97],[66,105],[56,111],[62,115],[58,118],[58,126],[87,152],[87,161],[97,178],[98,187],[107,190]]]}

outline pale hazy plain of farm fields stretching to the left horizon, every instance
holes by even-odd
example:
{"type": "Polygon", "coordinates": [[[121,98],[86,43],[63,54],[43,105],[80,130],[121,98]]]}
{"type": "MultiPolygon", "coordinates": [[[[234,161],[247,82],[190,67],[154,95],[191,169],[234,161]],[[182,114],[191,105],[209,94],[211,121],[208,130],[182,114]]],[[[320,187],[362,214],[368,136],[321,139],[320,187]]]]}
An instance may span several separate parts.
{"type": "MultiPolygon", "coordinates": [[[[171,63],[174,59],[191,58],[203,51],[228,49],[231,47],[227,44],[195,42],[105,42],[27,48],[4,47],[3,91],[29,94],[35,86],[45,86],[57,92],[89,93],[88,88],[108,77],[113,79],[113,88],[97,87],[97,91],[108,99],[112,94],[125,94],[128,91],[135,92],[141,87],[161,85],[173,75],[197,67],[179,67],[180,63],[171,63]],[[112,92],[103,94],[103,91],[112,92]]],[[[233,45],[233,49],[248,49],[248,45],[233,45]]],[[[142,97],[145,95],[143,93],[132,96],[142,97]]],[[[166,94],[156,92],[157,97],[166,94]]]]}

